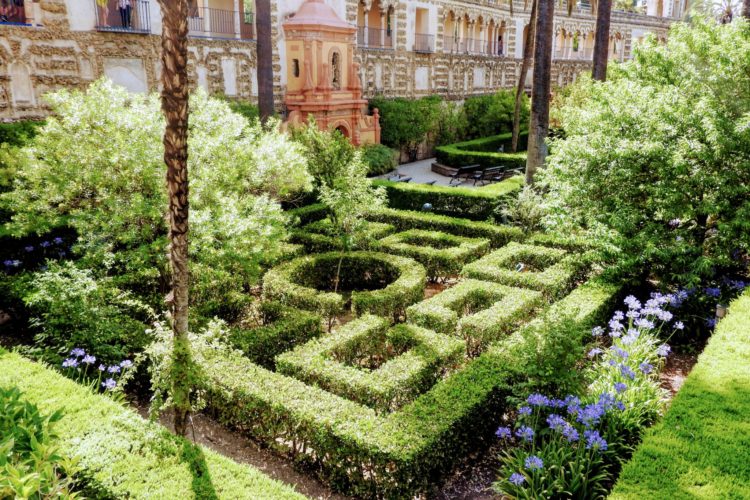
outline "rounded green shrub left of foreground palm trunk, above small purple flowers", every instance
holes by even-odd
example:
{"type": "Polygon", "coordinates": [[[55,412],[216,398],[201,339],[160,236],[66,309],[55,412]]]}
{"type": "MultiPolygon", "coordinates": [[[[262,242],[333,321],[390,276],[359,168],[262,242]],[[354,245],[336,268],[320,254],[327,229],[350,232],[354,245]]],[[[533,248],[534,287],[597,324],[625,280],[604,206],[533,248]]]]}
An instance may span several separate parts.
{"type": "Polygon", "coordinates": [[[73,348],[103,363],[119,363],[151,341],[153,311],[111,278],[96,278],[74,264],[50,263],[36,273],[23,300],[35,333],[31,352],[58,364],[73,348]]]}

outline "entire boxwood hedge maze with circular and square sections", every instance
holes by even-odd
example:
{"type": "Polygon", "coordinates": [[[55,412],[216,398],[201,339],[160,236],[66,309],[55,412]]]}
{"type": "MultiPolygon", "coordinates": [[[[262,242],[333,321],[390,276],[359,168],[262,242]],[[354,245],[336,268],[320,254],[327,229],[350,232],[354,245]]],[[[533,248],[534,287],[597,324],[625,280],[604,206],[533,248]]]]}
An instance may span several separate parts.
{"type": "Polygon", "coordinates": [[[206,399],[335,489],[408,498],[492,435],[523,329],[561,311],[593,324],[616,290],[587,276],[585,253],[512,228],[368,218],[367,248],[345,253],[325,219],[305,222],[297,240],[317,253],[267,272],[267,324],[234,331],[237,349],[206,363],[206,399]],[[425,299],[428,278],[446,285],[425,299]]]}

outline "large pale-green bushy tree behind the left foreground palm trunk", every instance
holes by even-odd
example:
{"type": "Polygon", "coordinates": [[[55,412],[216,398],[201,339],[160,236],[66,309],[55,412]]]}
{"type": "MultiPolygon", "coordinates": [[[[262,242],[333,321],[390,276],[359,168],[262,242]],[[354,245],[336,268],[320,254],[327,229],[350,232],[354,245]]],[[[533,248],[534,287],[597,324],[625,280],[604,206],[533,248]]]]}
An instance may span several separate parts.
{"type": "MultiPolygon", "coordinates": [[[[283,250],[275,200],[310,188],[302,149],[202,91],[191,97],[191,300],[199,315],[237,314],[261,266],[283,250]]],[[[161,307],[168,286],[163,118],[156,95],[107,81],[48,96],[55,111],[15,157],[0,197],[15,236],[68,225],[73,253],[97,275],[161,307]]]]}

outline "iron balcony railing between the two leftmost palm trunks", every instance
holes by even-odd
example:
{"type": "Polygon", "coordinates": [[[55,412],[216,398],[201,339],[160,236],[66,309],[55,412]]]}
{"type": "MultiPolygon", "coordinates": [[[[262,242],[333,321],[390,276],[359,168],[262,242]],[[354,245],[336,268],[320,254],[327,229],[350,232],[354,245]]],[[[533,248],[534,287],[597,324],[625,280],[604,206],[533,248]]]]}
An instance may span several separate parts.
{"type": "Polygon", "coordinates": [[[254,40],[252,12],[194,7],[188,13],[188,34],[204,38],[254,40]]]}

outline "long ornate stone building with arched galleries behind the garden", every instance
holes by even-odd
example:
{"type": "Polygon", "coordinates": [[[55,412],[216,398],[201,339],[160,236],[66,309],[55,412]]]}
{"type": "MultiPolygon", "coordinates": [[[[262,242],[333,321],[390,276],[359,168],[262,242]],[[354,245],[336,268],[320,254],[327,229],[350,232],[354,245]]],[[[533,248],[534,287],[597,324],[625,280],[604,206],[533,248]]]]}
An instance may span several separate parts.
{"type": "MultiPolygon", "coordinates": [[[[289,84],[283,23],[303,0],[272,1],[274,87],[289,84]]],[[[362,94],[451,99],[510,87],[519,74],[529,12],[500,0],[325,0],[352,25],[362,94]]],[[[584,0],[579,0],[584,1],[584,0]]],[[[643,14],[613,12],[611,59],[630,57],[652,33],[665,38],[686,0],[646,0],[643,14]]],[[[131,91],[158,88],[161,18],[156,0],[0,0],[0,119],[43,116],[44,93],[106,75],[131,91]]],[[[552,78],[590,68],[595,20],[588,3],[555,20],[552,78]]],[[[190,80],[211,93],[254,100],[253,0],[191,0],[190,80]]],[[[349,68],[347,68],[349,70],[349,68]]]]}

